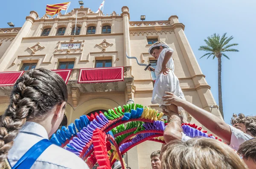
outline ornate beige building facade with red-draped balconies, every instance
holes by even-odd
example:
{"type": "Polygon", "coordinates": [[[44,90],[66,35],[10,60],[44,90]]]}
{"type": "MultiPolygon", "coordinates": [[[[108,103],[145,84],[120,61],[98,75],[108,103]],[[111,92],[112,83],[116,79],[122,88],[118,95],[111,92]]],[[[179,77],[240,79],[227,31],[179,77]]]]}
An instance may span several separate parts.
{"type": "MultiPolygon", "coordinates": [[[[159,110],[158,105],[151,104],[154,73],[145,71],[135,59],[128,59],[126,53],[154,66],[156,60],[148,54],[148,48],[161,40],[174,49],[175,74],[186,100],[222,119],[184,28],[177,16],[131,22],[127,6],[122,7],[122,14],[113,11],[106,15],[83,7],[56,17],[39,17],[31,11],[21,28],[0,28],[0,115],[9,104],[12,84],[32,68],[67,70],[63,76],[69,98],[63,125],[80,115],[132,101],[159,110]]],[[[187,121],[198,124],[187,112],[182,113],[187,121]]],[[[146,141],[128,152],[126,162],[132,169],[151,168],[150,154],[160,148],[160,143],[146,141]]]]}

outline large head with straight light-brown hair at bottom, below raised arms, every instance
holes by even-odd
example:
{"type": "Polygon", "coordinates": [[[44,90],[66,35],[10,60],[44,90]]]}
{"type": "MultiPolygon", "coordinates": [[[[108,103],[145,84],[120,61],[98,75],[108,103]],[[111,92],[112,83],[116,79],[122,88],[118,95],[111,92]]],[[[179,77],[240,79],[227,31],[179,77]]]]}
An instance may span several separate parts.
{"type": "Polygon", "coordinates": [[[166,146],[162,169],[247,169],[233,149],[215,139],[175,140],[166,146]]]}

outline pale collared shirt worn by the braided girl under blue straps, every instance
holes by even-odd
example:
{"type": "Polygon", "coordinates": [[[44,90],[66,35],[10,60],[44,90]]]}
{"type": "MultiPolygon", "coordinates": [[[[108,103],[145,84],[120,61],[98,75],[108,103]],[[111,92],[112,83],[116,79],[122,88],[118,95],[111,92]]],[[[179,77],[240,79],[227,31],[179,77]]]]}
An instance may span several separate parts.
{"type": "MultiPolygon", "coordinates": [[[[44,138],[48,139],[48,134],[43,126],[26,122],[8,153],[11,166],[14,166],[34,144],[44,138]]],[[[89,169],[89,167],[74,153],[52,144],[38,157],[31,169],[89,169]]]]}

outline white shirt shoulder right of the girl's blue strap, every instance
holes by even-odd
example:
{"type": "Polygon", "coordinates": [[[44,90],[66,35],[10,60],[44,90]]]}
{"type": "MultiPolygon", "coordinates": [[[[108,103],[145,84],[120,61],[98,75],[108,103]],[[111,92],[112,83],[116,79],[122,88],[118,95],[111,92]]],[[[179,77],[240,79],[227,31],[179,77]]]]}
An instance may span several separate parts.
{"type": "Polygon", "coordinates": [[[49,146],[41,156],[38,159],[39,161],[47,161],[69,169],[89,169],[87,164],[80,157],[55,144],[49,146]]]}

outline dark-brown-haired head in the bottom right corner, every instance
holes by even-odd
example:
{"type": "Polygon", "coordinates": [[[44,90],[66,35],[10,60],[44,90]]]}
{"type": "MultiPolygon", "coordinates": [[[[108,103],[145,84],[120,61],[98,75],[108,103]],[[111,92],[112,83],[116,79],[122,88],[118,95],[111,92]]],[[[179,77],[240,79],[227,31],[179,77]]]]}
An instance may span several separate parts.
{"type": "Polygon", "coordinates": [[[245,141],[237,151],[249,169],[256,169],[256,138],[245,141]]]}

